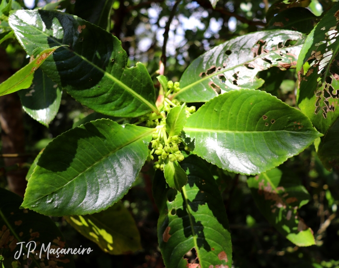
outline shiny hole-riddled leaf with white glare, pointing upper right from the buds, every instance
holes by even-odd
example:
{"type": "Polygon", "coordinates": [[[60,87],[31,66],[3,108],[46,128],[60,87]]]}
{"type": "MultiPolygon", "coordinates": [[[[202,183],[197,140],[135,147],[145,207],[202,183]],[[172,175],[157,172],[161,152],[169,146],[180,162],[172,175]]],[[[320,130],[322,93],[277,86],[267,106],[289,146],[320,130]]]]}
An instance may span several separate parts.
{"type": "Polygon", "coordinates": [[[291,30],[257,31],[231,39],[194,60],[180,79],[180,101],[207,102],[233,89],[258,89],[258,72],[295,68],[306,36],[291,30]]]}

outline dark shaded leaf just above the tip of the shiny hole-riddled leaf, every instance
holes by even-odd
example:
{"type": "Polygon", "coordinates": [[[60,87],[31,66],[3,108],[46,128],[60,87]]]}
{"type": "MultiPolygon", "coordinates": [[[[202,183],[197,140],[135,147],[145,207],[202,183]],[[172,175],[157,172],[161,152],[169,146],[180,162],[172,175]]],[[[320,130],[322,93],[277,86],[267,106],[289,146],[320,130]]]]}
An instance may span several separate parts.
{"type": "Polygon", "coordinates": [[[302,33],[309,33],[313,30],[313,25],[317,16],[307,8],[293,7],[282,11],[273,17],[267,29],[297,30],[302,33]]]}

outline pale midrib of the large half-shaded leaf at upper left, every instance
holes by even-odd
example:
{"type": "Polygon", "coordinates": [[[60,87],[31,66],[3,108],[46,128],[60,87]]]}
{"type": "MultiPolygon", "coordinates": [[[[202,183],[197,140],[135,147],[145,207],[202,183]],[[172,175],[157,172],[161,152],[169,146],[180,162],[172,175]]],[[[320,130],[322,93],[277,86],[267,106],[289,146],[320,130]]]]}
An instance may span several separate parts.
{"type": "MultiPolygon", "coordinates": [[[[18,18],[18,20],[20,20],[21,22],[23,22],[24,24],[30,26],[31,28],[33,28],[34,30],[37,30],[39,32],[41,32],[43,35],[45,35],[47,38],[52,39],[55,43],[59,44],[59,45],[64,45],[62,43],[60,43],[58,40],[54,39],[53,36],[49,36],[47,35],[44,31],[41,31],[38,28],[33,27],[31,24],[26,23],[25,21],[21,20],[18,16],[16,16],[18,18]]],[[[15,34],[16,36],[16,34],[15,34]]],[[[18,38],[19,39],[19,38],[18,38]]],[[[117,79],[116,77],[114,77],[113,75],[109,74],[108,72],[104,71],[103,69],[101,69],[99,66],[95,65],[94,63],[92,63],[92,61],[87,60],[85,57],[83,57],[82,55],[78,54],[77,52],[71,50],[70,48],[67,48],[71,53],[74,53],[77,57],[81,58],[82,60],[86,61],[87,63],[91,64],[94,68],[96,68],[97,70],[99,70],[101,73],[103,73],[104,75],[108,76],[111,80],[113,80],[115,83],[117,83],[121,88],[125,89],[127,92],[129,92],[131,95],[134,95],[135,97],[137,97],[141,102],[143,102],[144,104],[146,104],[147,106],[149,106],[154,112],[159,113],[158,109],[156,108],[156,106],[152,105],[149,101],[147,101],[145,98],[143,98],[142,96],[140,96],[137,92],[135,92],[133,89],[127,87],[125,84],[123,84],[119,79],[117,79]]]]}

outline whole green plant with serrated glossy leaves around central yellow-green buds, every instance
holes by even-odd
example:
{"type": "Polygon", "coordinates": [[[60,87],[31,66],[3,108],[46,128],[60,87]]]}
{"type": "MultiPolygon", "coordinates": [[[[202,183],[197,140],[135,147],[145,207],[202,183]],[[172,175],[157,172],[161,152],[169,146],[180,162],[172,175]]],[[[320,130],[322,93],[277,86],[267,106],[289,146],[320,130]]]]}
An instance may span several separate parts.
{"type": "MultiPolygon", "coordinates": [[[[326,24],[330,15],[331,11],[320,24],[326,24]]],[[[315,139],[322,137],[322,151],[336,138],[326,132],[331,131],[337,113],[323,107],[327,121],[320,116],[322,106],[329,104],[317,101],[321,108],[313,116],[308,113],[314,107],[308,111],[304,105],[323,90],[319,81],[329,85],[338,76],[337,69],[326,69],[326,74],[314,78],[316,96],[307,97],[314,92],[304,92],[308,90],[303,88],[304,81],[317,72],[308,73],[316,64],[324,68],[319,53],[310,52],[312,42],[322,44],[313,41],[315,37],[294,30],[265,30],[231,39],[194,60],[180,83],[158,76],[161,88],[156,92],[142,63],[126,66],[126,52],[116,37],[80,17],[58,11],[16,10],[10,12],[8,24],[31,63],[0,85],[2,95],[23,89],[19,94],[24,109],[46,125],[58,111],[61,89],[102,114],[96,114],[99,119],[92,115],[84,119],[38,155],[27,177],[23,211],[65,216],[105,252],[139,250],[138,230],[119,200],[132,187],[141,167],[152,163],[156,170],[154,200],[160,212],[158,241],[166,267],[186,267],[184,255],[194,248],[201,268],[230,268],[231,235],[216,179],[207,167],[211,163],[229,172],[253,175],[248,187],[267,220],[298,246],[315,243],[312,230],[297,214],[308,202],[308,192],[277,168],[315,139]],[[43,62],[36,60],[41,55],[46,55],[43,62]],[[295,68],[297,60],[299,69],[304,68],[299,72],[302,111],[257,90],[264,84],[257,75],[260,71],[295,68]],[[307,65],[311,67],[306,61],[312,61],[307,65]],[[47,88],[41,86],[42,80],[47,88]],[[41,93],[45,91],[49,95],[41,93]],[[41,98],[50,98],[48,105],[34,106],[33,100],[41,98]],[[204,104],[196,110],[189,105],[193,102],[204,104]],[[48,119],[42,114],[48,114],[48,119]],[[114,120],[102,118],[104,115],[114,120]],[[104,232],[90,235],[92,229],[104,232]]],[[[97,24],[103,27],[102,22],[97,24]]],[[[333,51],[326,63],[337,56],[338,49],[333,51]]],[[[338,99],[333,90],[330,93],[338,99]]],[[[331,161],[329,164],[335,162],[331,161]]],[[[8,198],[1,200],[1,208],[8,198]]],[[[1,212],[1,221],[9,218],[7,212],[10,210],[1,212]]],[[[5,223],[15,226],[10,218],[5,223]]],[[[15,236],[16,229],[9,229],[15,236]]]]}

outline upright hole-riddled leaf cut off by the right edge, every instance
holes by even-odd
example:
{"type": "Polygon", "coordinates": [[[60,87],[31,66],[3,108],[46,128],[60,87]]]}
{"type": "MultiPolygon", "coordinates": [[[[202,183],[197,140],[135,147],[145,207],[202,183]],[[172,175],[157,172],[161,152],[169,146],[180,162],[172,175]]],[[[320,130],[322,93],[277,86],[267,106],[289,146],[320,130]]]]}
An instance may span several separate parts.
{"type": "Polygon", "coordinates": [[[297,103],[316,129],[325,134],[339,118],[339,3],[308,35],[297,63],[297,103]]]}

